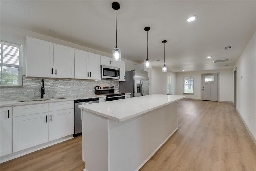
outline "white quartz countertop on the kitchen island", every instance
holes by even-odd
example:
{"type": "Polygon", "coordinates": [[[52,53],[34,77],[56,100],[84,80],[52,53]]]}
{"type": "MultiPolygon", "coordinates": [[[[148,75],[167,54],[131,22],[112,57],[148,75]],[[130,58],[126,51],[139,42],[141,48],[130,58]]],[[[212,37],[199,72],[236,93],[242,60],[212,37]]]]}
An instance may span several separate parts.
{"type": "Polygon", "coordinates": [[[104,103],[80,105],[78,107],[85,111],[121,122],[160,108],[164,105],[168,105],[185,97],[186,96],[184,95],[152,94],[114,101],[106,101],[104,103]]]}

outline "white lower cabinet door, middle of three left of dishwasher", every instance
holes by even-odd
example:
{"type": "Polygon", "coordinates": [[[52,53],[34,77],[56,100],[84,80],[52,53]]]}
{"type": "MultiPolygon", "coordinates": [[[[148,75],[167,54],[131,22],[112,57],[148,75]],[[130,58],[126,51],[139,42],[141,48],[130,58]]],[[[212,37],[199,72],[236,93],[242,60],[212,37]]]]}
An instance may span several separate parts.
{"type": "Polygon", "coordinates": [[[13,152],[49,141],[48,112],[13,118],[13,152]]]}

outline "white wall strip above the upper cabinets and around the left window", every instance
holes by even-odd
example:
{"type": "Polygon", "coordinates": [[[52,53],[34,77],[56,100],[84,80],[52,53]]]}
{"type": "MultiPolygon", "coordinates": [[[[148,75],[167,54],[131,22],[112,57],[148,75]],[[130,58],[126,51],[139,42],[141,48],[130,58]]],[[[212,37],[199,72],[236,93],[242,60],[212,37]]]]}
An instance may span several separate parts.
{"type": "MultiPolygon", "coordinates": [[[[84,51],[87,51],[87,52],[91,52],[91,53],[95,53],[95,54],[99,54],[99,55],[103,55],[103,56],[108,56],[108,57],[112,58],[112,54],[108,54],[106,52],[102,52],[102,51],[99,51],[99,50],[95,50],[95,49],[88,48],[88,47],[85,47],[85,46],[81,46],[81,45],[78,45],[78,44],[74,44],[74,43],[71,43],[71,42],[60,40],[60,39],[57,39],[57,38],[54,38],[54,37],[46,36],[44,34],[32,32],[32,31],[29,31],[29,30],[25,30],[25,29],[22,29],[22,28],[18,28],[18,27],[14,27],[14,26],[11,26],[11,25],[1,23],[1,26],[0,26],[0,40],[7,41],[7,42],[12,42],[12,43],[16,43],[16,44],[21,44],[23,46],[23,55],[22,55],[23,56],[23,58],[22,58],[23,59],[23,62],[22,62],[23,63],[23,67],[22,67],[23,75],[26,74],[26,68],[25,68],[25,46],[26,46],[25,40],[26,40],[26,36],[33,37],[33,38],[38,38],[38,39],[45,40],[45,41],[48,41],[48,42],[53,42],[53,43],[61,44],[61,45],[64,45],[64,46],[69,46],[69,47],[72,47],[72,48],[76,48],[76,49],[80,49],[80,50],[84,50],[84,51]]],[[[110,51],[112,52],[112,50],[110,50],[110,51]]],[[[125,71],[129,71],[129,70],[133,69],[133,65],[138,64],[136,62],[133,62],[133,61],[130,61],[130,60],[127,60],[127,59],[124,59],[124,58],[122,58],[122,60],[125,61],[125,71]]]]}

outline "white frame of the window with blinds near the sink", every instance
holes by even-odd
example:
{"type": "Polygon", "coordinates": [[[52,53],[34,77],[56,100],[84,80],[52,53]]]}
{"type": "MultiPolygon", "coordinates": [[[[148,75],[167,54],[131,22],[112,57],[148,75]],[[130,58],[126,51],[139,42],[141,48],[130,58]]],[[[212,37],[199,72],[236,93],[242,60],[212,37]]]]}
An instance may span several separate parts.
{"type": "MultiPolygon", "coordinates": [[[[18,81],[19,81],[19,84],[1,84],[0,83],[0,87],[22,87],[23,86],[23,75],[22,75],[22,59],[23,59],[23,46],[22,44],[16,44],[16,43],[12,43],[12,42],[7,42],[7,41],[4,41],[4,40],[0,40],[0,44],[3,44],[3,45],[7,45],[7,46],[13,46],[13,47],[18,47],[20,48],[20,51],[19,51],[19,65],[14,65],[14,64],[3,64],[2,63],[2,53],[3,53],[3,49],[1,49],[1,56],[0,56],[0,75],[2,75],[2,72],[1,72],[1,67],[2,66],[6,66],[6,67],[15,67],[15,68],[18,68],[18,81]]],[[[0,46],[0,48],[2,48],[2,46],[0,46]]],[[[1,79],[1,78],[0,78],[1,79]]]]}

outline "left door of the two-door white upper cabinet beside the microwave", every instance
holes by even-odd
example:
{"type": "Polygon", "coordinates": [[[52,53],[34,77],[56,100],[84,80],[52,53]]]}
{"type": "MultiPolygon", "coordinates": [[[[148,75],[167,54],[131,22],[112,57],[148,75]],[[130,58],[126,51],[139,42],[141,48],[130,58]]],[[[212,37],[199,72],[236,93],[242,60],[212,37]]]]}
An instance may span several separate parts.
{"type": "MultiPolygon", "coordinates": [[[[88,57],[89,52],[75,49],[75,78],[88,79],[88,57]]],[[[100,64],[98,64],[98,67],[100,67],[100,64]]]]}

